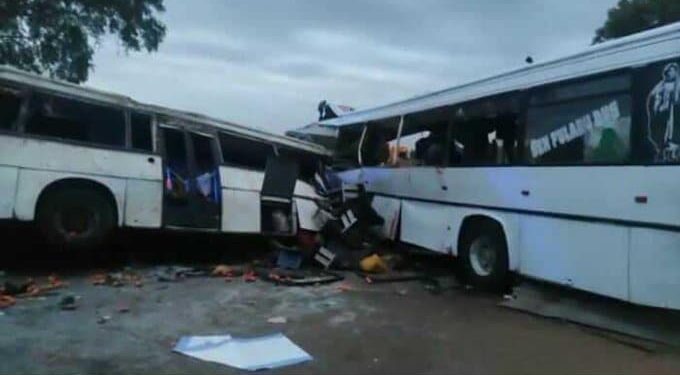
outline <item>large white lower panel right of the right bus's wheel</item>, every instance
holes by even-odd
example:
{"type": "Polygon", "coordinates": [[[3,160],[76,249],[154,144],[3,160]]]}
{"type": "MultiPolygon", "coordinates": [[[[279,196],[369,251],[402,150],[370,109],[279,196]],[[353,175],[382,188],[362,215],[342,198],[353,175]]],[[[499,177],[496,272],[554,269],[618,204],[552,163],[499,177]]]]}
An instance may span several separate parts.
{"type": "Polygon", "coordinates": [[[521,272],[628,300],[628,231],[610,224],[522,216],[521,272]]]}

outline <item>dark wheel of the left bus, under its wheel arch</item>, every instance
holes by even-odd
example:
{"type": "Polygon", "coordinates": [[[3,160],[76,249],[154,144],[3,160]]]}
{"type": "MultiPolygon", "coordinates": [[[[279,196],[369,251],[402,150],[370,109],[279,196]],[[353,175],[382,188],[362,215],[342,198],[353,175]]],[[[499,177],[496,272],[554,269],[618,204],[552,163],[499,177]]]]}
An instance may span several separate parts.
{"type": "Polygon", "coordinates": [[[93,248],[116,223],[114,208],[103,194],[88,188],[62,188],[41,199],[38,225],[51,245],[93,248]]]}

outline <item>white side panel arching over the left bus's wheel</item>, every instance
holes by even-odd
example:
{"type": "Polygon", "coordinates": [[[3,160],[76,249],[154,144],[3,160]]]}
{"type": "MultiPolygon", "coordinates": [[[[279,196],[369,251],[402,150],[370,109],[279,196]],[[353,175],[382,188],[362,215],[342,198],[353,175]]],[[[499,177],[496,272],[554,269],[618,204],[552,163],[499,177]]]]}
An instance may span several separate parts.
{"type": "Polygon", "coordinates": [[[19,170],[19,182],[15,213],[19,220],[33,220],[35,218],[36,204],[40,193],[51,183],[67,179],[77,178],[96,181],[106,186],[116,199],[118,209],[118,225],[123,223],[123,202],[125,199],[125,180],[122,178],[92,176],[77,173],[19,170]]]}

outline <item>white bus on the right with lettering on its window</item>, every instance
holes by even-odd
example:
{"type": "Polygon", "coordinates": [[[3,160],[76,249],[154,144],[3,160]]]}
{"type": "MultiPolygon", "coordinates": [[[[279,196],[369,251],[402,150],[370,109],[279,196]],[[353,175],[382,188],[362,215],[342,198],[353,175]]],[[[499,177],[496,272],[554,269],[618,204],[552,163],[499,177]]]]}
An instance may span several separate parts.
{"type": "Polygon", "coordinates": [[[680,24],[320,126],[384,236],[470,282],[680,308],[680,24]]]}

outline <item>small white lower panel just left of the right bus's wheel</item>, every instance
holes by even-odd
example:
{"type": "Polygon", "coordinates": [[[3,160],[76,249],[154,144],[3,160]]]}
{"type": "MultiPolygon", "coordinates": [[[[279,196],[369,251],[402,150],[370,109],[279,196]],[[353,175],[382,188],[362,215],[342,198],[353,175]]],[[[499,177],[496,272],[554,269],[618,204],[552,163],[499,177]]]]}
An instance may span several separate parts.
{"type": "Polygon", "coordinates": [[[455,208],[441,204],[404,201],[401,205],[401,240],[438,253],[451,253],[454,248],[455,208]]]}

